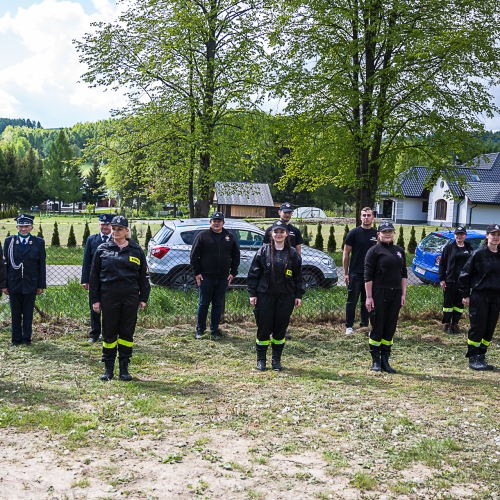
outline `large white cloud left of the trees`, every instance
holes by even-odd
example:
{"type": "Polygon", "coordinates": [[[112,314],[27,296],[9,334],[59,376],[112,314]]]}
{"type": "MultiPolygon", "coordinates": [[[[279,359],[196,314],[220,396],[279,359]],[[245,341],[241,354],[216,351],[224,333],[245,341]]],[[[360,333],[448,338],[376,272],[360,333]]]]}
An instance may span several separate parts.
{"type": "Polygon", "coordinates": [[[123,98],[116,94],[78,83],[86,68],[79,63],[72,40],[81,39],[90,31],[92,22],[112,21],[118,14],[113,1],[92,2],[97,12],[90,15],[77,1],[43,0],[27,9],[19,8],[13,16],[7,13],[0,18],[0,43],[2,34],[9,36],[9,40],[16,35],[18,46],[10,41],[9,50],[22,54],[14,64],[0,66],[2,115],[8,112],[10,116],[19,116],[22,111],[34,116],[31,109],[24,109],[23,102],[49,96],[53,106],[74,108],[74,122],[81,119],[79,111],[100,110],[105,117],[113,106],[123,103],[123,98]],[[10,107],[5,109],[4,102],[10,107]]]}

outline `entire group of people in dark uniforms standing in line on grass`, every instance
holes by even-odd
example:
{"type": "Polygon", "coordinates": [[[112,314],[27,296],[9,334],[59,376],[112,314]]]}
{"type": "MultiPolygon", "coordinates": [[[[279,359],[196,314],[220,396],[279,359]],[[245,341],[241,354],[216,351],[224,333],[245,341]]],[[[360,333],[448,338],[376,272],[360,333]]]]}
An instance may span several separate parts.
{"type": "MultiPolygon", "coordinates": [[[[266,369],[269,345],[271,366],[281,371],[281,356],[290,317],[302,304],[300,230],[290,224],[293,208],[280,207],[280,220],[266,230],[264,245],[250,266],[247,288],[257,323],[257,369],[266,369]]],[[[201,231],[191,248],[191,265],[199,287],[195,338],[204,335],[210,305],[210,333],[221,338],[219,324],[227,287],[238,273],[240,249],[236,237],[224,229],[224,214],[214,212],[210,228],[201,231]]],[[[33,236],[34,218],[17,217],[18,234],[5,240],[0,265],[0,289],[9,296],[12,347],[30,345],[36,296],[46,288],[45,243],[33,236]]],[[[361,210],[361,225],[345,240],[342,258],[347,284],[346,334],[354,332],[357,303],[361,304],[361,327],[371,324],[369,350],[373,371],[395,373],[389,365],[393,337],[401,307],[406,302],[407,268],[404,250],[395,245],[394,226],[382,222],[373,228],[373,211],[361,210]]],[[[137,311],[146,307],[150,294],[147,262],[142,248],[130,240],[125,217],[101,214],[98,234],[87,239],[81,283],[89,291],[91,331],[89,342],[102,335],[101,380],[114,377],[118,356],[119,378],[132,379],[132,357],[137,311]],[[101,328],[102,315],[102,328],[101,328]]],[[[444,249],[439,280],[444,293],[443,324],[450,335],[459,333],[463,305],[469,308],[469,367],[492,370],[486,352],[500,313],[500,226],[490,224],[485,244],[472,250],[463,227],[444,249]]]]}

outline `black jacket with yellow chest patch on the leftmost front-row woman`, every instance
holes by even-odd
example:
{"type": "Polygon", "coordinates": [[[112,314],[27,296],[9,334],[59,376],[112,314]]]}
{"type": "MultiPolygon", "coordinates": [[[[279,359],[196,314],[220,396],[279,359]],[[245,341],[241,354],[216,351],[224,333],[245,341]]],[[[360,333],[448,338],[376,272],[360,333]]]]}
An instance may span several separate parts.
{"type": "Polygon", "coordinates": [[[134,241],[120,247],[111,239],[97,247],[90,270],[90,300],[101,302],[101,292],[138,293],[140,302],[147,302],[151,285],[146,274],[147,263],[142,248],[134,241]]]}

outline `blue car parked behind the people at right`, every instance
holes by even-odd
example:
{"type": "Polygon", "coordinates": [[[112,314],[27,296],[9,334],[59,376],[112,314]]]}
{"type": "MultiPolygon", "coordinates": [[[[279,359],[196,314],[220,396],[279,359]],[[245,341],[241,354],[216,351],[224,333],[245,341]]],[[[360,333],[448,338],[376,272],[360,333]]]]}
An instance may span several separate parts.
{"type": "MultiPolygon", "coordinates": [[[[473,249],[484,243],[485,231],[467,232],[467,241],[473,249]]],[[[443,247],[455,239],[453,231],[434,231],[426,236],[417,246],[411,268],[424,283],[439,284],[439,261],[443,247]]]]}

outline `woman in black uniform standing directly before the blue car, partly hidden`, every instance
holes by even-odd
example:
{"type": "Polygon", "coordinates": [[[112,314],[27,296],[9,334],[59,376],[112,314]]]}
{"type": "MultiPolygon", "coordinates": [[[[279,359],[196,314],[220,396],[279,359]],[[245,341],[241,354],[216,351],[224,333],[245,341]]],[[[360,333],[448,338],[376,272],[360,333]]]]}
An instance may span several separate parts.
{"type": "Polygon", "coordinates": [[[443,325],[448,335],[458,335],[458,322],[463,313],[462,294],[458,289],[458,277],[472,255],[472,245],[465,239],[467,231],[459,226],[455,229],[455,240],[443,248],[439,261],[439,283],[443,289],[443,325]]]}

